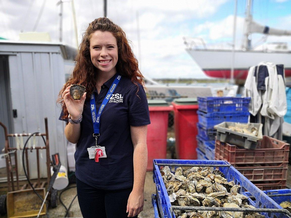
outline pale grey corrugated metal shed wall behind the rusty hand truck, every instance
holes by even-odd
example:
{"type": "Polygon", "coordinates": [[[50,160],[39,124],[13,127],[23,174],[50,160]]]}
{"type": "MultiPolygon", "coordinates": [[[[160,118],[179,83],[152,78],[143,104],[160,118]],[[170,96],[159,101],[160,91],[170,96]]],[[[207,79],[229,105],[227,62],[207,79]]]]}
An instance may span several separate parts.
{"type": "MultiPolygon", "coordinates": [[[[17,46],[10,46],[10,50],[17,50],[17,46]]],[[[14,133],[45,133],[44,118],[47,117],[50,154],[58,152],[62,165],[67,167],[67,141],[63,132],[65,123],[58,120],[60,106],[56,105],[58,93],[65,83],[64,63],[60,48],[52,45],[49,46],[50,51],[47,52],[48,49],[45,48],[48,46],[30,47],[30,45],[26,45],[26,47],[22,45],[21,52],[9,56],[12,108],[17,109],[18,115],[17,118],[13,118],[14,133]]],[[[33,140],[31,140],[32,144],[33,140]]],[[[37,144],[38,146],[43,145],[41,138],[37,140],[37,144]]],[[[46,177],[45,151],[42,151],[42,157],[40,172],[41,176],[46,177]]],[[[29,162],[31,178],[36,178],[35,151],[29,154],[29,162]]],[[[22,166],[19,165],[19,167],[22,169],[22,166]]]]}

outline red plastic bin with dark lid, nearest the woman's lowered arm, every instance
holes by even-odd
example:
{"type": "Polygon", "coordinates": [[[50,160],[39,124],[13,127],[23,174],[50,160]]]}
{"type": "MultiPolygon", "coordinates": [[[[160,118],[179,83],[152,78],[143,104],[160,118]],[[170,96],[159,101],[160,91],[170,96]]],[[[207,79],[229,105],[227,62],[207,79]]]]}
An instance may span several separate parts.
{"type": "Polygon", "coordinates": [[[166,159],[168,115],[173,106],[166,101],[148,100],[150,111],[150,124],[148,125],[147,146],[148,165],[147,171],[152,171],[154,159],[166,159]]]}

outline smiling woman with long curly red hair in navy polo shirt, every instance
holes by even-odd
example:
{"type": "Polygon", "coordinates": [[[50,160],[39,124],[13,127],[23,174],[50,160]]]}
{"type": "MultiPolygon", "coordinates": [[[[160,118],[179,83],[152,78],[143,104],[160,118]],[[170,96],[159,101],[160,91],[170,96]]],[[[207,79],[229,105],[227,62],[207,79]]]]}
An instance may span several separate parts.
{"type": "Polygon", "coordinates": [[[75,175],[84,218],[137,217],[143,210],[150,119],[142,79],[123,30],[106,17],[91,22],[59,99],[65,136],[77,143],[75,175]],[[71,84],[86,87],[80,100],[70,97],[71,84]]]}

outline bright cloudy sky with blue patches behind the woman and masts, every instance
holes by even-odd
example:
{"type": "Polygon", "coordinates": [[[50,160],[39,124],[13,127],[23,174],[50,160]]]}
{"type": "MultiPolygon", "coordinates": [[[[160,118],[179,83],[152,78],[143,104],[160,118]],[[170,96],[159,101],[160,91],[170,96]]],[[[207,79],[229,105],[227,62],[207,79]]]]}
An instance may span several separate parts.
{"type": "MultiPolygon", "coordinates": [[[[57,2],[0,0],[0,37],[19,40],[20,32],[35,30],[49,32],[52,41],[58,42],[57,2]]],[[[141,72],[152,78],[206,78],[185,51],[182,37],[202,37],[207,47],[232,43],[234,0],[107,0],[107,4],[107,17],[123,28],[132,41],[141,72]]],[[[103,0],[74,0],[74,5],[80,42],[88,24],[104,15],[103,0]]],[[[244,0],[238,0],[237,48],[242,42],[245,6],[244,0]]],[[[63,7],[63,43],[76,46],[71,3],[64,2],[63,7]]],[[[260,24],[291,30],[290,0],[255,0],[252,11],[253,19],[260,24]]],[[[253,43],[261,37],[253,34],[253,43]]],[[[291,48],[291,37],[269,36],[267,42],[288,42],[291,48]]]]}

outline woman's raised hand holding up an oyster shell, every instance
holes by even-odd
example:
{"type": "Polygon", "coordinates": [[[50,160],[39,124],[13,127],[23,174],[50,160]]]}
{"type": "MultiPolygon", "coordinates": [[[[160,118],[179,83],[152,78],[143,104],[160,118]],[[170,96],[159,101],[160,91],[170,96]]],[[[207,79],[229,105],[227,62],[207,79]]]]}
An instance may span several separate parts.
{"type": "MultiPolygon", "coordinates": [[[[72,84],[71,84],[72,85],[72,84]]],[[[71,115],[71,119],[77,120],[81,117],[84,108],[84,102],[86,99],[86,92],[83,94],[80,100],[74,100],[70,95],[70,87],[69,85],[62,94],[64,102],[66,104],[67,110],[71,115]]]]}

